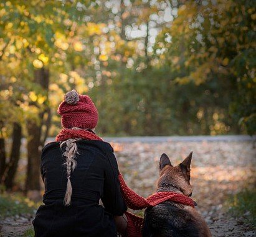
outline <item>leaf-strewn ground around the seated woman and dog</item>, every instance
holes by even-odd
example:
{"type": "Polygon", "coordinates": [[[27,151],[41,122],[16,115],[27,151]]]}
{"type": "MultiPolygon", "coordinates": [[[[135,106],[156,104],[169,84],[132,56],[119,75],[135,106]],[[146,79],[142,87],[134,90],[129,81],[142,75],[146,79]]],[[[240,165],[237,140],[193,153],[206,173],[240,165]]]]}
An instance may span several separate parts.
{"type": "MultiPolygon", "coordinates": [[[[251,198],[255,200],[256,149],[252,141],[108,141],[126,183],[143,197],[154,192],[162,153],[168,154],[176,165],[193,151],[192,199],[196,200],[212,236],[256,236],[252,220],[255,204],[248,207],[246,203],[251,198]]],[[[4,218],[0,236],[32,236],[33,217],[34,214],[27,213],[4,218]]]]}

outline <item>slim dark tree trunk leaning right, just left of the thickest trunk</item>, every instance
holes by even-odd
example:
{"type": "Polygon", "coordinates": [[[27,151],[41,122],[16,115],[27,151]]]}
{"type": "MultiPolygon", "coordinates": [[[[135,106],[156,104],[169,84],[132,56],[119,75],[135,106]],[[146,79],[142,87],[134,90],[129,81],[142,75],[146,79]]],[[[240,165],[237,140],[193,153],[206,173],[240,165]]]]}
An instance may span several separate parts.
{"type": "Polygon", "coordinates": [[[12,189],[14,184],[14,177],[17,171],[17,166],[20,158],[21,150],[21,125],[14,123],[12,132],[12,148],[9,164],[7,165],[6,177],[4,177],[4,184],[6,189],[12,189]]]}

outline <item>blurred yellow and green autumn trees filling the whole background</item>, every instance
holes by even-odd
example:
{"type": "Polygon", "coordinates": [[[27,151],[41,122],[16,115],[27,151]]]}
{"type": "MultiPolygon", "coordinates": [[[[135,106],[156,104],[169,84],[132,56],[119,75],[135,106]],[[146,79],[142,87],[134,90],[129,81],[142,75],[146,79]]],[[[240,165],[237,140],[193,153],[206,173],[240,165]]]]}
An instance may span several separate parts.
{"type": "Polygon", "coordinates": [[[1,189],[40,190],[70,89],[100,136],[255,134],[255,1],[0,2],[1,189]]]}

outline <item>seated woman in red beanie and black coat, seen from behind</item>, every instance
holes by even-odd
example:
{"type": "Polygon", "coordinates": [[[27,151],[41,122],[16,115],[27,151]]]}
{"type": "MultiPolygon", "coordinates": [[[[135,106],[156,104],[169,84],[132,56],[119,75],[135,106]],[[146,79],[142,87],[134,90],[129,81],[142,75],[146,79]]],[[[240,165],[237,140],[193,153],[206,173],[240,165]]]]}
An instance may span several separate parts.
{"type": "Polygon", "coordinates": [[[113,148],[95,134],[98,112],[72,90],[59,105],[62,129],[42,149],[45,192],[32,221],[36,237],[125,236],[127,210],[113,148]],[[103,206],[99,204],[102,200],[103,206]]]}

